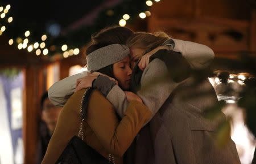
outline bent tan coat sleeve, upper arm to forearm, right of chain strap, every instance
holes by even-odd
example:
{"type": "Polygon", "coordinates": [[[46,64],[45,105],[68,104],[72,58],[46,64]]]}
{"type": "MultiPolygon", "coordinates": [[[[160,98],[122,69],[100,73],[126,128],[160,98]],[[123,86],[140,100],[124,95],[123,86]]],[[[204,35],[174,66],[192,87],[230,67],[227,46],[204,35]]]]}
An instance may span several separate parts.
{"type": "Polygon", "coordinates": [[[152,113],[134,100],[119,122],[114,107],[106,107],[108,104],[110,102],[100,92],[93,92],[88,106],[88,124],[109,153],[122,157],[152,113]]]}

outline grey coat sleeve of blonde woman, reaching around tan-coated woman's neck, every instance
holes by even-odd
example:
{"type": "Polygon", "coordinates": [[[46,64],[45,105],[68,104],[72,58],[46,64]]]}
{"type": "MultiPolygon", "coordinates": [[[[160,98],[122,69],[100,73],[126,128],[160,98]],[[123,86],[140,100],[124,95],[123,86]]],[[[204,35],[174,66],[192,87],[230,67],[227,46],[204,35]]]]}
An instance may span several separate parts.
{"type": "MultiPolygon", "coordinates": [[[[137,94],[141,97],[144,105],[151,111],[152,116],[160,109],[164,101],[170,96],[172,90],[177,86],[177,83],[166,77],[167,75],[168,69],[166,64],[160,59],[151,61],[143,72],[141,90],[137,94]]],[[[104,94],[114,105],[119,116],[123,117],[129,103],[125,92],[118,85],[114,85],[108,93],[104,94]]]]}

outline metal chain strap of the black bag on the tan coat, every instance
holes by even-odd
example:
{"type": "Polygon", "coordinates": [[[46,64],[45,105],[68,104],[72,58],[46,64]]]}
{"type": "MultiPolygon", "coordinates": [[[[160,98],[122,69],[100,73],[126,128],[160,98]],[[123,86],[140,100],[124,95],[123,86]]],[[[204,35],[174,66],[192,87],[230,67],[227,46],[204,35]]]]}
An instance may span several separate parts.
{"type": "MultiPolygon", "coordinates": [[[[82,96],[82,101],[81,101],[81,104],[80,104],[80,115],[81,115],[81,124],[80,124],[80,127],[79,127],[79,137],[82,139],[82,141],[85,140],[85,132],[82,131],[82,127],[83,127],[83,124],[84,124],[84,120],[85,118],[82,118],[82,103],[84,102],[84,98],[85,98],[85,95],[87,93],[89,88],[86,88],[85,90],[85,93],[84,95],[82,96]]],[[[115,164],[115,157],[113,156],[113,154],[109,154],[109,161],[112,162],[113,164],[115,164]]]]}

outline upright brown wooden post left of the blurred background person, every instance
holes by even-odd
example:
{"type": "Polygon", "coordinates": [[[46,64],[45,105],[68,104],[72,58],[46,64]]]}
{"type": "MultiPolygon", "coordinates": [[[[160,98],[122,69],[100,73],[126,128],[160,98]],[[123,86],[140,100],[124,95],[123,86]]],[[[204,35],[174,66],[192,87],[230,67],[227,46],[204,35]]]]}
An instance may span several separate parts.
{"type": "Polygon", "coordinates": [[[24,69],[25,93],[23,109],[24,163],[35,163],[38,144],[39,100],[43,92],[43,69],[27,66],[24,69]]]}

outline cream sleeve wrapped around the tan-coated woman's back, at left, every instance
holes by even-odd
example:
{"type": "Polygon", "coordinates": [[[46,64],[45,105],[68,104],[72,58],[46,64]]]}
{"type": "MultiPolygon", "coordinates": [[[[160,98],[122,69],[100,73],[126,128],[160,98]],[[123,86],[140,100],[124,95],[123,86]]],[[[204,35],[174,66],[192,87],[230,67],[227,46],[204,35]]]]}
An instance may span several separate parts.
{"type": "Polygon", "coordinates": [[[64,106],[68,98],[75,92],[76,80],[86,75],[87,71],[84,71],[54,83],[48,90],[49,100],[55,106],[64,106]]]}

